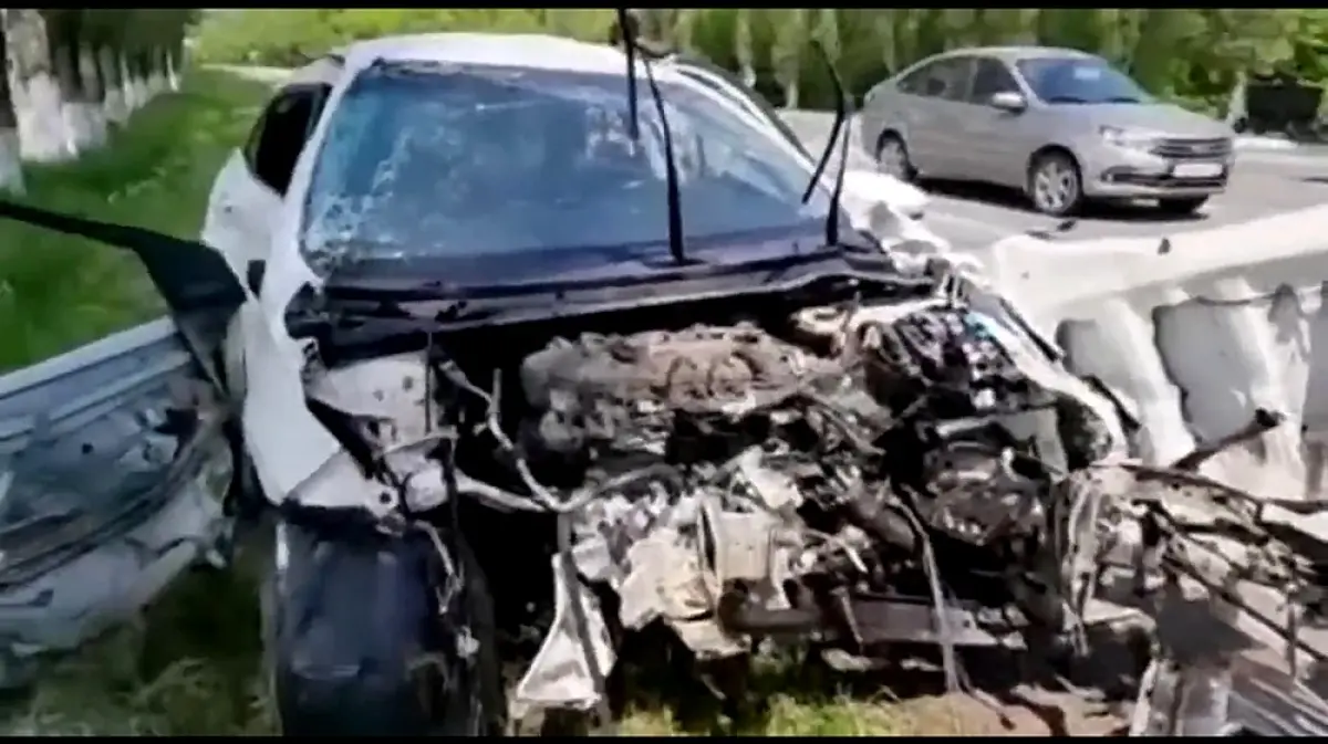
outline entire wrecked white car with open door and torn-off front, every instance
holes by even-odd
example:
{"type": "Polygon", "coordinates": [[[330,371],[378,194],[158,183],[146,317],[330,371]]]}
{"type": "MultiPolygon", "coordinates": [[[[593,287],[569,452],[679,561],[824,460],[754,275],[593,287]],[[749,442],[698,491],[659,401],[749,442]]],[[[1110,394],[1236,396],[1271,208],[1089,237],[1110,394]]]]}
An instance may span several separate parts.
{"type": "MultiPolygon", "coordinates": [[[[1231,651],[1182,649],[1149,603],[1191,573],[1312,584],[1191,472],[1211,447],[1129,460],[1108,390],[888,199],[823,176],[845,111],[813,163],[625,52],[355,45],[267,106],[202,244],[0,204],[135,251],[173,313],[0,378],[5,670],[266,511],[290,735],[607,724],[652,633],[699,674],[765,638],[837,664],[939,647],[964,688],[964,649],[1076,667],[1094,627],[1145,641],[1137,733],[1315,729],[1287,671],[1193,694],[1232,687],[1231,651]],[[1201,528],[1250,553],[1195,568],[1201,528]]],[[[714,675],[736,706],[741,683],[714,675]]]]}

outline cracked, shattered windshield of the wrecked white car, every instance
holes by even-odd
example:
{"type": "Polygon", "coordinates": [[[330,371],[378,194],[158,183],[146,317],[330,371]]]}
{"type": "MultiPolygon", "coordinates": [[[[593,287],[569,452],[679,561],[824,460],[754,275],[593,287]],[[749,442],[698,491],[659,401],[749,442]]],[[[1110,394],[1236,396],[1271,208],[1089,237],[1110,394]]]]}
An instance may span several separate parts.
{"type": "MultiPolygon", "coordinates": [[[[347,90],[315,163],[305,257],[457,257],[668,240],[663,130],[620,74],[378,65],[347,90]]],[[[696,86],[660,81],[688,237],[821,224],[793,153],[696,86]]]]}

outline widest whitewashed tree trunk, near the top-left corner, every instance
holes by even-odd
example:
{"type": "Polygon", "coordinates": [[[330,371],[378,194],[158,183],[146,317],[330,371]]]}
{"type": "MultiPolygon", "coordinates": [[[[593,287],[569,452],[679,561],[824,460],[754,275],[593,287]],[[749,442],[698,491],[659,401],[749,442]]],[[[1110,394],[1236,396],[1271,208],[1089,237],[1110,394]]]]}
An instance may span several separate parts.
{"type": "Polygon", "coordinates": [[[50,69],[46,21],[41,11],[32,8],[9,8],[4,17],[23,156],[42,163],[68,160],[77,153],[65,125],[64,97],[50,69]]]}

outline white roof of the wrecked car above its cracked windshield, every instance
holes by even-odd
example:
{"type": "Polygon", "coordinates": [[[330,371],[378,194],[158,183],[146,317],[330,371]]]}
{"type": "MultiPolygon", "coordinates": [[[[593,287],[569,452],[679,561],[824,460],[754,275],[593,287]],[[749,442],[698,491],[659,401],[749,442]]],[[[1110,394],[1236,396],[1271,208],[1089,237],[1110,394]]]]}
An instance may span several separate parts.
{"type": "MultiPolygon", "coordinates": [[[[333,84],[347,72],[353,73],[377,60],[606,74],[624,74],[627,69],[627,56],[607,44],[537,33],[418,33],[385,36],[347,45],[292,73],[291,84],[333,84]]],[[[656,76],[661,80],[669,80],[676,74],[663,66],[656,70],[656,76]]]]}

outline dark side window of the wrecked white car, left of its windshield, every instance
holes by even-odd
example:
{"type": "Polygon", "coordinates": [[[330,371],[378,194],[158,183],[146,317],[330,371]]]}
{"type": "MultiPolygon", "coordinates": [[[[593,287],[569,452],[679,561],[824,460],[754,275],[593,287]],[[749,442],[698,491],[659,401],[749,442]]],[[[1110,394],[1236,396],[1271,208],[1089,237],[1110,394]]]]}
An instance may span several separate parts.
{"type": "Polygon", "coordinates": [[[254,178],[286,194],[295,160],[313,131],[331,86],[301,85],[268,102],[244,143],[244,163],[254,178]]]}

